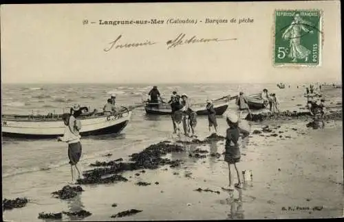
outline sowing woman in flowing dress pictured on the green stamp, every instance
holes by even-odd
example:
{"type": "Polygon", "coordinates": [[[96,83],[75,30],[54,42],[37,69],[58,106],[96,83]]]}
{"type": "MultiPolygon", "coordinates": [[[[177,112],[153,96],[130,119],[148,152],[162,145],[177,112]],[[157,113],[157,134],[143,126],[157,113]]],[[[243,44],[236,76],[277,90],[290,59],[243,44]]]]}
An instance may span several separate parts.
{"type": "Polygon", "coordinates": [[[308,29],[312,23],[303,20],[300,14],[296,14],[294,17],[294,21],[292,21],[291,25],[283,32],[282,38],[285,40],[289,40],[290,51],[288,54],[289,58],[292,58],[292,62],[297,62],[297,60],[304,59],[305,62],[308,61],[308,56],[310,55],[310,50],[301,45],[301,32],[307,32],[312,34],[313,31],[308,29]]]}

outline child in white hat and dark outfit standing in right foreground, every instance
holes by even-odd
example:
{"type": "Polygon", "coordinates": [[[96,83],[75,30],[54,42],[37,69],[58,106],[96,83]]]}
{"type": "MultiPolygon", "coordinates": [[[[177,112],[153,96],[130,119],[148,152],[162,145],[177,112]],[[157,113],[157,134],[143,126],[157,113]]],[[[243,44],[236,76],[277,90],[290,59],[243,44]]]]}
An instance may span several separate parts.
{"type": "MultiPolygon", "coordinates": [[[[240,150],[239,150],[239,137],[240,137],[240,130],[238,127],[238,116],[233,113],[229,113],[226,116],[226,121],[228,123],[229,128],[226,132],[226,145],[225,145],[225,156],[224,161],[228,163],[228,169],[229,169],[229,184],[225,190],[234,190],[233,186],[233,177],[232,173],[230,171],[231,166],[235,168],[235,171],[237,172],[237,178],[238,183],[235,184],[236,188],[242,188],[242,180],[241,180],[241,173],[239,173],[239,169],[237,167],[237,163],[240,162],[240,150]]],[[[248,134],[244,134],[243,137],[248,136],[248,134]]]]}

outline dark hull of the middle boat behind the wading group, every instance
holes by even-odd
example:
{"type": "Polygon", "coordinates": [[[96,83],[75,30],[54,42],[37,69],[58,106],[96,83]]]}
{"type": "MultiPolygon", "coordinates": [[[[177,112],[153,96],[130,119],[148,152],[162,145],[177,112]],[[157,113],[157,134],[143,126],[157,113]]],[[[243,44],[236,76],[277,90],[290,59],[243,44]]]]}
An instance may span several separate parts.
{"type": "MultiPolygon", "coordinates": [[[[204,105],[205,107],[206,105],[204,105]]],[[[228,104],[222,104],[220,106],[214,106],[215,112],[217,115],[222,115],[226,112],[228,104]]],[[[171,115],[171,107],[165,104],[159,104],[158,106],[144,106],[144,110],[149,115],[171,115]]],[[[193,108],[198,116],[208,115],[208,111],[204,108],[193,108]]]]}

